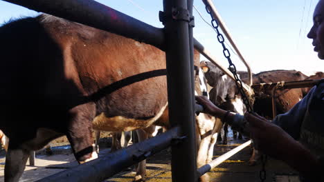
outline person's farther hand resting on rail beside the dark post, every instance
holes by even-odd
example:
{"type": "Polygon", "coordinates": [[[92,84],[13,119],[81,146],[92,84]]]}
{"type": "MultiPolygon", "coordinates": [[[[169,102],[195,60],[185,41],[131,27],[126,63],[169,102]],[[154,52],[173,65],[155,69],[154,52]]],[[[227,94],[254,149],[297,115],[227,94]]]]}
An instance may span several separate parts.
{"type": "Polygon", "coordinates": [[[215,117],[222,116],[222,114],[224,113],[224,110],[214,105],[207,97],[195,96],[195,98],[197,103],[204,107],[204,113],[213,115],[215,117]]]}

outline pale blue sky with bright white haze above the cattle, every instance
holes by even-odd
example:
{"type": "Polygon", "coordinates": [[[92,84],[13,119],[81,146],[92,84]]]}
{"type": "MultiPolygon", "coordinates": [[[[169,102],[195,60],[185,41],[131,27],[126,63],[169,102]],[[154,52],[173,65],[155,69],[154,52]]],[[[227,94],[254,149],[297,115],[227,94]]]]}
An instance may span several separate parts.
{"type": "MultiPolygon", "coordinates": [[[[159,22],[162,0],[98,0],[111,8],[136,19],[163,27],[159,22]]],[[[300,70],[305,74],[324,71],[324,60],[317,58],[312,41],[306,34],[312,26],[312,12],[318,0],[226,0],[213,1],[233,39],[253,72],[265,70],[300,70]]],[[[195,7],[210,22],[204,4],[195,0],[195,7]]],[[[10,18],[35,16],[26,8],[0,1],[0,23],[10,18]]],[[[194,37],[204,44],[218,61],[228,65],[222,55],[217,35],[194,9],[194,37]]],[[[231,52],[238,70],[245,70],[238,57],[231,52]]],[[[204,59],[204,58],[202,58],[204,59]]]]}

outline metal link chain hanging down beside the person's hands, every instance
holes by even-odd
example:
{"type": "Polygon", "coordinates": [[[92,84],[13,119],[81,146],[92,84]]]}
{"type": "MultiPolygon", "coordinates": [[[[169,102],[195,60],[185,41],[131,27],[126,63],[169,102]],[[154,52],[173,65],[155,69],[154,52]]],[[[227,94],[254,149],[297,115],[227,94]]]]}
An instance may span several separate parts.
{"type": "MultiPolygon", "coordinates": [[[[229,63],[228,70],[230,70],[234,75],[235,85],[236,85],[237,89],[240,91],[240,94],[242,96],[243,103],[246,106],[247,112],[253,113],[253,108],[251,107],[249,99],[248,99],[248,97],[246,97],[246,94],[244,92],[242,81],[237,76],[236,67],[232,63],[231,54],[228,51],[228,49],[226,48],[226,46],[225,46],[224,36],[222,35],[221,32],[219,32],[219,30],[218,30],[219,24],[218,24],[217,20],[214,19],[213,14],[210,12],[210,9],[211,9],[210,6],[206,4],[206,11],[208,12],[208,14],[210,14],[210,17],[212,19],[211,24],[212,24],[213,28],[215,29],[215,31],[217,32],[217,40],[219,41],[219,43],[222,44],[224,57],[226,57],[226,59],[227,59],[227,61],[229,63]]],[[[267,162],[267,156],[262,154],[262,168],[260,170],[260,179],[261,179],[262,182],[265,181],[265,179],[267,177],[267,173],[266,173],[266,170],[265,170],[266,162],[267,162]]]]}

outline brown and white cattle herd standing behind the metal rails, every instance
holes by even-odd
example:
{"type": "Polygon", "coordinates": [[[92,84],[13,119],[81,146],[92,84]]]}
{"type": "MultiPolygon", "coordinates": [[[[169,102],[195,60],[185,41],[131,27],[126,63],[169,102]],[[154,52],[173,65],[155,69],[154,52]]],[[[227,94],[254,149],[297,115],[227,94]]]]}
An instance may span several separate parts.
{"type": "MultiPolygon", "coordinates": [[[[75,159],[98,157],[93,130],[136,130],[138,141],[159,125],[168,130],[165,54],[154,46],[48,14],[6,23],[0,28],[1,141],[6,141],[6,181],[18,181],[30,151],[66,135],[75,159]],[[19,126],[19,127],[17,127],[19,126]]],[[[235,83],[195,51],[195,93],[205,94],[226,110],[246,111],[235,83]],[[207,84],[208,83],[208,84],[207,84]],[[206,94],[207,93],[207,94],[206,94]]],[[[242,81],[246,73],[240,72],[242,81]]],[[[321,79],[320,72],[312,79],[321,79]],[[314,78],[316,77],[316,78],[314,78]]],[[[309,79],[295,70],[253,75],[253,83],[309,79]]],[[[307,89],[278,90],[278,114],[289,110],[307,89]]],[[[271,117],[269,92],[255,93],[254,110],[271,117]]],[[[196,116],[197,166],[213,158],[220,119],[196,116]]],[[[98,139],[96,140],[98,141],[98,139]]],[[[135,181],[145,178],[145,161],[135,181]]],[[[201,176],[208,181],[208,175],[201,176]]]]}

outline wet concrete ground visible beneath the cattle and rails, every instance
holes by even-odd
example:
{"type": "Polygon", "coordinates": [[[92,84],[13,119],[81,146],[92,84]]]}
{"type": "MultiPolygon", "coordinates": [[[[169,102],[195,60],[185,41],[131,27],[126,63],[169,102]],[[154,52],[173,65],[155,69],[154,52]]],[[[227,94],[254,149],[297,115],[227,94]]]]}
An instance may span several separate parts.
{"type": "MultiPolygon", "coordinates": [[[[233,137],[228,138],[228,145],[217,145],[214,151],[214,157],[220,156],[225,152],[235,148],[240,143],[244,143],[246,140],[237,140],[233,137]]],[[[102,149],[100,155],[109,152],[108,148],[102,149]]],[[[3,152],[0,155],[0,181],[3,180],[3,169],[5,158],[3,152]],[[2,155],[1,155],[2,154],[2,155]]],[[[251,156],[249,147],[244,148],[241,152],[235,154],[228,160],[226,160],[217,168],[208,172],[210,175],[210,181],[260,181],[259,172],[261,164],[250,166],[247,161],[251,156]]],[[[166,182],[172,181],[171,179],[171,166],[170,166],[171,154],[168,150],[163,150],[161,153],[151,156],[147,159],[147,182],[166,182]]],[[[73,154],[69,150],[62,150],[62,152],[55,152],[52,156],[46,156],[45,154],[37,155],[35,161],[35,167],[27,166],[26,170],[21,177],[20,181],[36,181],[42,179],[45,176],[55,174],[66,168],[73,168],[78,163],[75,161],[73,154]]],[[[124,182],[132,181],[135,173],[131,170],[134,167],[116,174],[111,179],[107,179],[106,182],[124,182]]],[[[274,159],[268,159],[266,164],[267,179],[266,182],[298,182],[297,173],[291,170],[289,166],[285,165],[281,161],[274,159]]]]}

